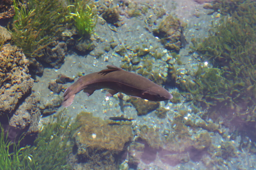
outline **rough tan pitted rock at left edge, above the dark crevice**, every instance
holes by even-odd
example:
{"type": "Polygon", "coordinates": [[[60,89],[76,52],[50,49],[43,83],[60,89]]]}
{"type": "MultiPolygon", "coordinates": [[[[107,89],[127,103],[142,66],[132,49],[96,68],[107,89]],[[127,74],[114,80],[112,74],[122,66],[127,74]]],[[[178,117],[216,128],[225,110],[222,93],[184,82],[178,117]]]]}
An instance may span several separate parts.
{"type": "Polygon", "coordinates": [[[10,44],[0,51],[0,116],[11,114],[21,98],[31,93],[33,79],[22,50],[10,44]]]}

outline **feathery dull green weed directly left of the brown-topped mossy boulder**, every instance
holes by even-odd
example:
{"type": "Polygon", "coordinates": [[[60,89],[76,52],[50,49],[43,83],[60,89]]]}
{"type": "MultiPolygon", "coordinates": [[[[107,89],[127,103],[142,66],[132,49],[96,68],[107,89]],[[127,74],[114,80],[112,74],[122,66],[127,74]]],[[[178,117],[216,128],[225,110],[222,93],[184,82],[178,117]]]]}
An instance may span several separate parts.
{"type": "Polygon", "coordinates": [[[70,118],[62,116],[62,111],[51,117],[48,124],[43,124],[42,131],[39,132],[35,140],[36,146],[31,155],[36,162],[37,169],[70,169],[67,162],[67,156],[72,151],[72,137],[75,124],[70,124],[70,118]]]}

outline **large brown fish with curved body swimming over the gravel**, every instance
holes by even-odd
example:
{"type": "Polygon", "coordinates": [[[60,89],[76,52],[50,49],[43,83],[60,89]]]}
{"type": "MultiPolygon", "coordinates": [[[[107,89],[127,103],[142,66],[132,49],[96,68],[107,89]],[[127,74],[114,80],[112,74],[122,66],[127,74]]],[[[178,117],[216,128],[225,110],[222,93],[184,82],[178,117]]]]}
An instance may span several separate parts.
{"type": "Polygon", "coordinates": [[[129,96],[147,99],[150,101],[164,101],[173,96],[163,87],[151,80],[125,71],[119,67],[108,65],[107,69],[79,77],[77,82],[69,86],[64,94],[61,105],[68,107],[72,104],[77,93],[83,90],[91,96],[95,90],[108,89],[107,96],[121,92],[129,96]]]}

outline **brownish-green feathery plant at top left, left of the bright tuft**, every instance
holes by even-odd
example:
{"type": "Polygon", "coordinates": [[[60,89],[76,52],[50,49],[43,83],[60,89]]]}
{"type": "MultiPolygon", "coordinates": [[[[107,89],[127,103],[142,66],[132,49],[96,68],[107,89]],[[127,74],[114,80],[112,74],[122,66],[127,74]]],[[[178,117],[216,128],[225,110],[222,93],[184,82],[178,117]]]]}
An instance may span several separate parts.
{"type": "Polygon", "coordinates": [[[15,16],[12,23],[13,42],[26,57],[40,57],[42,50],[65,28],[67,9],[53,1],[13,1],[15,16]]]}

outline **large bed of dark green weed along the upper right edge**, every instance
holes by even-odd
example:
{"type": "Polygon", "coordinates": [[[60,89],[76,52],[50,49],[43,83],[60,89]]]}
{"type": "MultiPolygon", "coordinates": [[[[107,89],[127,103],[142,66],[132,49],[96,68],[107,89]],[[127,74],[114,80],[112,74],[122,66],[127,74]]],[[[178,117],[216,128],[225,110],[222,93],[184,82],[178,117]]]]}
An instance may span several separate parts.
{"type": "Polygon", "coordinates": [[[192,41],[192,48],[210,60],[214,68],[199,66],[194,83],[185,86],[205,106],[218,103],[218,110],[254,112],[256,3],[245,1],[229,12],[230,16],[222,16],[217,25],[213,23],[208,37],[192,41]]]}

